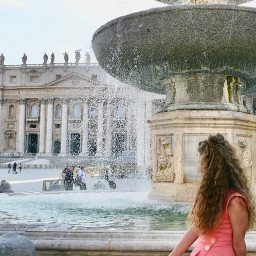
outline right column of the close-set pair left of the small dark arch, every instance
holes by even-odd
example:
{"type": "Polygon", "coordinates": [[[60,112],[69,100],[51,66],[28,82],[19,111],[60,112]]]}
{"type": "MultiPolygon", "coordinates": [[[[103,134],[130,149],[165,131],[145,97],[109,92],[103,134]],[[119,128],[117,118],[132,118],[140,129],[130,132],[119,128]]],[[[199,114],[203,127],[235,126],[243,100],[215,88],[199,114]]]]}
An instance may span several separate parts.
{"type": "Polygon", "coordinates": [[[52,155],[52,132],[53,132],[53,99],[47,102],[47,127],[46,127],[46,154],[52,155]]]}

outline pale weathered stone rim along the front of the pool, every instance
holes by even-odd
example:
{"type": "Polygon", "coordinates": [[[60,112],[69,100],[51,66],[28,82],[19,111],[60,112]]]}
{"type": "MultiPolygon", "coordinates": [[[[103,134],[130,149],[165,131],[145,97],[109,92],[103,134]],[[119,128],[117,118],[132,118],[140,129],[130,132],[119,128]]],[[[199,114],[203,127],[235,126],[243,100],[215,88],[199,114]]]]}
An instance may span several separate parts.
{"type": "MultiPolygon", "coordinates": [[[[72,230],[71,225],[60,224],[0,224],[0,235],[10,231],[29,238],[37,251],[91,252],[169,252],[185,233],[185,231],[72,230]]],[[[248,252],[256,252],[255,239],[256,231],[246,233],[245,241],[248,252]]],[[[193,247],[194,245],[188,251],[191,251],[193,247]]]]}

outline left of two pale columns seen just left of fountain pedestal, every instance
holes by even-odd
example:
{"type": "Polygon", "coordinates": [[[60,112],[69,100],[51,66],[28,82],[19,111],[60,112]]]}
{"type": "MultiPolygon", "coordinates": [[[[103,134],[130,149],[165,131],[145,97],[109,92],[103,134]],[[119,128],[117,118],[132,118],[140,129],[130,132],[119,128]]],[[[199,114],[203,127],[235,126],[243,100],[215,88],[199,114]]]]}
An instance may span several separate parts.
{"type": "Polygon", "coordinates": [[[145,101],[137,103],[137,165],[145,165],[145,101]]]}

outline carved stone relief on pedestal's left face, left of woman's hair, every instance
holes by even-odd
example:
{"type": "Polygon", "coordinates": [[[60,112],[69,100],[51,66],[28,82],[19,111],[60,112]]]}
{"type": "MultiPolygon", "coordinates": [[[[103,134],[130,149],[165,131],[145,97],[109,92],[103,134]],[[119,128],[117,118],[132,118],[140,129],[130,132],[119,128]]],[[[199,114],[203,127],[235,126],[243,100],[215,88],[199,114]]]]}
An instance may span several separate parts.
{"type": "Polygon", "coordinates": [[[157,142],[156,151],[156,181],[174,182],[174,172],[172,166],[172,138],[160,137],[157,142]]]}

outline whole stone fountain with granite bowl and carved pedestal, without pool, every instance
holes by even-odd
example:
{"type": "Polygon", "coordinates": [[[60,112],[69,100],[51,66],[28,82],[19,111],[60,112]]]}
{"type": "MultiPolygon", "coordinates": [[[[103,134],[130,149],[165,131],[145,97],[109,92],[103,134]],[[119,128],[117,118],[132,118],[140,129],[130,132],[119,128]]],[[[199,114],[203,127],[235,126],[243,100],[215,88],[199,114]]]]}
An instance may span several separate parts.
{"type": "Polygon", "coordinates": [[[217,132],[237,148],[255,185],[256,119],[241,92],[256,76],[256,9],[159,1],[173,6],[116,18],[92,38],[96,58],[109,74],[166,94],[165,106],[148,121],[150,197],[187,201],[197,172],[197,145],[217,132]]]}

